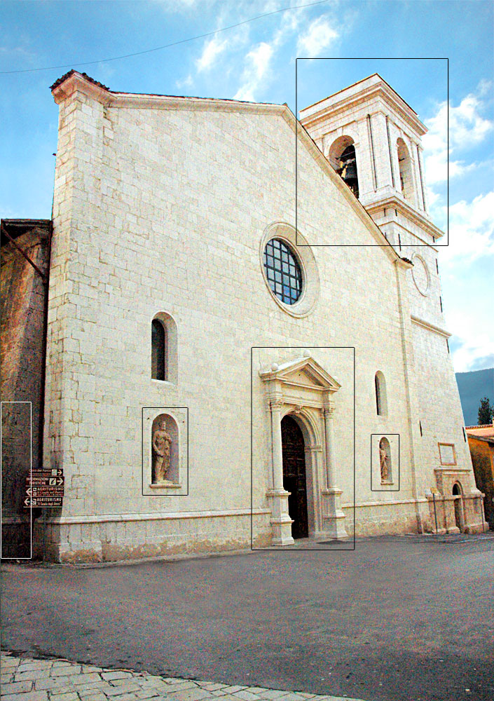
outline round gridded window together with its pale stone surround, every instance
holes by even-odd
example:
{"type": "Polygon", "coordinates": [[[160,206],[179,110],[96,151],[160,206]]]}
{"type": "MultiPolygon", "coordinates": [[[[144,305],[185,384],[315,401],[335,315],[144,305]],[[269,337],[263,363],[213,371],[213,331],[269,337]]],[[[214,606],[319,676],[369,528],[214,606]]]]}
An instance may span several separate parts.
{"type": "Polygon", "coordinates": [[[306,238],[284,222],[270,224],[259,242],[259,262],[271,297],[284,312],[301,318],[319,297],[319,274],[306,238]]]}

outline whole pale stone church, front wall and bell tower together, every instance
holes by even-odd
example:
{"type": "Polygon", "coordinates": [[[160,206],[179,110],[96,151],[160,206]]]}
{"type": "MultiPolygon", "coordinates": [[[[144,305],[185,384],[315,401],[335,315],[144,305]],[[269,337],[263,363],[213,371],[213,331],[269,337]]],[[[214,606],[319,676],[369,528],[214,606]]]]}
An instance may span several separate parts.
{"type": "Polygon", "coordinates": [[[50,557],[481,530],[413,109],[52,90],[50,557]]]}

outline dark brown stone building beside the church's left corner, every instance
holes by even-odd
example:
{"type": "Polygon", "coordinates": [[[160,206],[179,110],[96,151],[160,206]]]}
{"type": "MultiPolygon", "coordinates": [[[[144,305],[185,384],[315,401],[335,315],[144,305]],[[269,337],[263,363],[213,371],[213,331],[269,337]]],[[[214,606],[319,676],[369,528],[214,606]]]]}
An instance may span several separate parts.
{"type": "Polygon", "coordinates": [[[26,477],[42,464],[51,222],[1,222],[1,554],[31,557],[26,477]]]}

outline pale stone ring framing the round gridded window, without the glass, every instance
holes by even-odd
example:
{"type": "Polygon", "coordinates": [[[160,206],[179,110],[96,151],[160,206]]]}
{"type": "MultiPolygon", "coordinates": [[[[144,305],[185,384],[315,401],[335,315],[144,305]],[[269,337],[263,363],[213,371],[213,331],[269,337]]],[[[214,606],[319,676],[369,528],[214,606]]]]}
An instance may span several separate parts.
{"type": "Polygon", "coordinates": [[[319,297],[319,273],[317,271],[317,264],[312,249],[308,245],[306,238],[299,232],[296,232],[293,226],[286,224],[284,222],[277,222],[275,224],[270,224],[266,228],[261,237],[261,244],[259,246],[259,262],[261,264],[261,273],[263,275],[264,283],[269,290],[271,297],[275,300],[277,306],[279,306],[283,311],[285,311],[290,316],[296,318],[303,318],[313,311],[315,303],[319,297]],[[291,254],[295,257],[299,268],[302,273],[302,292],[294,304],[286,304],[284,301],[279,299],[275,292],[271,290],[268,275],[266,275],[266,268],[264,266],[264,251],[266,250],[266,245],[273,238],[277,238],[285,243],[291,254]],[[299,248],[297,243],[301,244],[299,248]]]}

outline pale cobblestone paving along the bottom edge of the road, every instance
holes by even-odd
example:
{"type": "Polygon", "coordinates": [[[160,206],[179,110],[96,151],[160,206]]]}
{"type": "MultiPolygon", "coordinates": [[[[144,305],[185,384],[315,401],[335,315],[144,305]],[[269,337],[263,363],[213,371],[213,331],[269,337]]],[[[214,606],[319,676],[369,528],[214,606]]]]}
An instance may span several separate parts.
{"type": "Polygon", "coordinates": [[[1,653],[1,701],[362,701],[1,653]]]}

